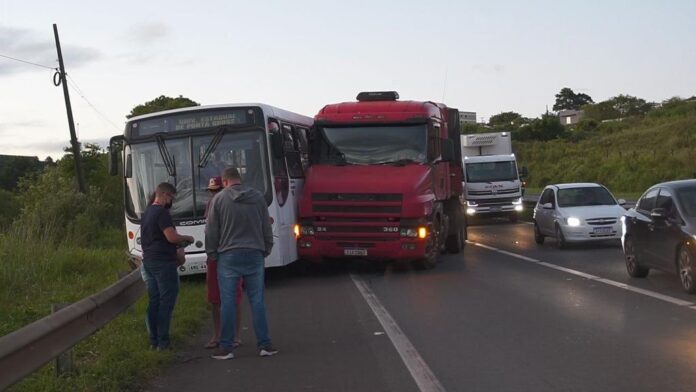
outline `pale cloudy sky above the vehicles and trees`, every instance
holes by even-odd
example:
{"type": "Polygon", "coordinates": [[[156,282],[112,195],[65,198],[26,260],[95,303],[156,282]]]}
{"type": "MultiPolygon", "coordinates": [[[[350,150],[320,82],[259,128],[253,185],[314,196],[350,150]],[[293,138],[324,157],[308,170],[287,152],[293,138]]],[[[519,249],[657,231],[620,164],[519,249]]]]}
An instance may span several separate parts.
{"type": "Polygon", "coordinates": [[[0,154],[57,159],[69,144],[54,23],[78,138],[104,147],[160,95],[313,116],[396,90],[479,121],[538,117],[563,87],[690,97],[694,16],[693,0],[0,0],[0,154]]]}

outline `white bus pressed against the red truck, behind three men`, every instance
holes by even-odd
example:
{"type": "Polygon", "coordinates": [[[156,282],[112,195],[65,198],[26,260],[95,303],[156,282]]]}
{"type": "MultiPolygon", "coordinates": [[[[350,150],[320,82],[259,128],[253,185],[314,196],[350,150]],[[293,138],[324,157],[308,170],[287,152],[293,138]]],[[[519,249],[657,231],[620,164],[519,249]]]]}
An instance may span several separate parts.
{"type": "Polygon", "coordinates": [[[205,272],[208,180],[236,167],[268,203],[274,246],[266,267],[297,260],[293,225],[311,125],[310,117],[264,104],[195,106],[129,119],[124,134],[109,143],[111,175],[118,175],[122,157],[129,253],[142,257],[140,219],[157,184],[167,181],[177,189],[170,209],[176,229],[194,238],[179,274],[205,272]]]}

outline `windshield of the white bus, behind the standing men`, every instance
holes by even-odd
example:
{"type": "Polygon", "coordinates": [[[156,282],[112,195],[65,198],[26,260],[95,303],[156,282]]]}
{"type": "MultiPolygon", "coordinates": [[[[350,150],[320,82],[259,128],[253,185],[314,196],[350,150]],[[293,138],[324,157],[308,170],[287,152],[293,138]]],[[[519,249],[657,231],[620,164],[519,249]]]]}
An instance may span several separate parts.
{"type": "MultiPolygon", "coordinates": [[[[264,134],[260,131],[225,133],[210,154],[204,167],[198,167],[201,156],[214,135],[186,136],[165,139],[166,151],[172,158],[176,175],[169,176],[157,142],[131,144],[132,176],[126,179],[126,212],[140,219],[157,184],[170,182],[177,193],[170,210],[175,220],[201,219],[210,199],[206,190],[210,177],[221,175],[226,167],[236,167],[242,182],[258,189],[270,200],[267,155],[264,134]]],[[[269,203],[270,204],[270,203],[269,203]]]]}

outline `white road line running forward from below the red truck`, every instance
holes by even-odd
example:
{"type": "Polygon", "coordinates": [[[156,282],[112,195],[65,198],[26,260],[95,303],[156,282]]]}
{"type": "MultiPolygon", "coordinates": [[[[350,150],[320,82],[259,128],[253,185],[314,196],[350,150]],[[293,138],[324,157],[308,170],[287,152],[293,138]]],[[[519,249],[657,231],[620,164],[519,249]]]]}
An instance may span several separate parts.
{"type": "Polygon", "coordinates": [[[372,312],[379,320],[384,328],[387,336],[399,353],[401,360],[404,361],[406,368],[411,373],[413,380],[418,385],[422,392],[440,392],[445,391],[445,388],[440,384],[440,381],[435,377],[435,374],[430,370],[430,367],[420,356],[416,348],[411,344],[406,334],[399,328],[394,318],[389,314],[387,309],[382,306],[374,292],[370,287],[358,276],[351,274],[353,283],[360,291],[360,294],[365,299],[365,302],[370,306],[372,312]]]}

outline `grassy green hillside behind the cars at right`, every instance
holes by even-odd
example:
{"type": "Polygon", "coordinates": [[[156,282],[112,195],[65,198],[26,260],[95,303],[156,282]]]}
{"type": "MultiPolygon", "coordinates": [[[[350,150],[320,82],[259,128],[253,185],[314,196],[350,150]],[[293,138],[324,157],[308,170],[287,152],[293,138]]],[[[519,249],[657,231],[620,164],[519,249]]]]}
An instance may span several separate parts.
{"type": "Polygon", "coordinates": [[[589,181],[614,192],[642,192],[661,181],[696,178],[696,101],[570,132],[578,137],[514,143],[530,187],[589,181]]]}

